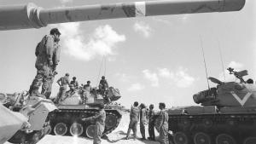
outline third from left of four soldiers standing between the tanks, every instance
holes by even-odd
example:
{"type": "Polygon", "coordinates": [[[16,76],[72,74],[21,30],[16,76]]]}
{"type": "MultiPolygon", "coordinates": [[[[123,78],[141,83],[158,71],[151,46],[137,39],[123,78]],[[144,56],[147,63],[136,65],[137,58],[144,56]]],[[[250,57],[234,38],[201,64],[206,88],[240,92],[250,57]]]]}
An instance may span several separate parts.
{"type": "Polygon", "coordinates": [[[148,112],[148,140],[155,141],[155,135],[154,135],[154,105],[151,104],[149,106],[149,112],[148,112]]]}

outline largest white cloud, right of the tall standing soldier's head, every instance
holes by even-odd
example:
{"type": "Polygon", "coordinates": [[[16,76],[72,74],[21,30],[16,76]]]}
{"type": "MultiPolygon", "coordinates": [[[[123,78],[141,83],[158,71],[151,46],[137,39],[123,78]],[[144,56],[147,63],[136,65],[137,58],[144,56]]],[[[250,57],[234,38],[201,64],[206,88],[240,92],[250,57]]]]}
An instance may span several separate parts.
{"type": "Polygon", "coordinates": [[[98,26],[85,41],[80,23],[65,23],[58,26],[61,31],[63,47],[66,54],[78,60],[92,60],[97,55],[115,55],[113,49],[125,42],[125,35],[119,35],[109,25],[98,26]]]}

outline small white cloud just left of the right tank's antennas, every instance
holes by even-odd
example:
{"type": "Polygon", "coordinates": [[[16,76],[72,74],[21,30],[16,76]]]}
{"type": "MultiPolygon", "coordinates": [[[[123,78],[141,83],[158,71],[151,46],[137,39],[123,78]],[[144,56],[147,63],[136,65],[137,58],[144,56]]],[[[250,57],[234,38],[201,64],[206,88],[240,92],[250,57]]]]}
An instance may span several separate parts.
{"type": "Polygon", "coordinates": [[[187,88],[195,82],[195,78],[187,73],[187,69],[179,67],[176,71],[171,72],[167,68],[159,68],[158,74],[161,78],[167,78],[178,88],[187,88]]]}

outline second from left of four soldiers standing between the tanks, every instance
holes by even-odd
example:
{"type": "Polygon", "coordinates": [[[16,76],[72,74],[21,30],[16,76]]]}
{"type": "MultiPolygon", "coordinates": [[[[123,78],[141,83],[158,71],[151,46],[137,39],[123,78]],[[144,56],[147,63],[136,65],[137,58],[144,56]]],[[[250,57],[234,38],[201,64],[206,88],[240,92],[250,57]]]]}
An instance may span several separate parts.
{"type": "Polygon", "coordinates": [[[146,137],[145,137],[146,124],[147,124],[147,110],[146,110],[146,106],[142,103],[140,105],[140,131],[143,136],[142,140],[146,140],[146,137]]]}

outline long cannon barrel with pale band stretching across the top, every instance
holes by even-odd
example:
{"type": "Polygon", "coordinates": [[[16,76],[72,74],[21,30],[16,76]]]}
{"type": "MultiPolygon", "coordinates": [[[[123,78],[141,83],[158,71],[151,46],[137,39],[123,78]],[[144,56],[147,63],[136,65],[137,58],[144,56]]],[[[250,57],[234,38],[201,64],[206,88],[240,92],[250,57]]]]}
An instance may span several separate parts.
{"type": "Polygon", "coordinates": [[[245,0],[166,0],[42,9],[33,3],[0,6],[0,30],[40,28],[48,24],[137,16],[238,11],[245,0]]]}

